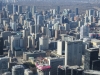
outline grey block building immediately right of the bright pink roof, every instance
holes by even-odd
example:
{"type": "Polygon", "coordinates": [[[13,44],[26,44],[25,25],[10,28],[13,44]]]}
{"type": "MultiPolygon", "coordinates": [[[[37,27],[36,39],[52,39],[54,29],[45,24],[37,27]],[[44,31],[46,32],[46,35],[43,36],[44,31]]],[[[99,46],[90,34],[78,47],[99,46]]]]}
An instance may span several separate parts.
{"type": "Polygon", "coordinates": [[[55,57],[55,58],[46,58],[49,61],[49,65],[51,66],[50,75],[57,75],[57,67],[59,65],[64,64],[64,58],[63,57],[55,57]]]}

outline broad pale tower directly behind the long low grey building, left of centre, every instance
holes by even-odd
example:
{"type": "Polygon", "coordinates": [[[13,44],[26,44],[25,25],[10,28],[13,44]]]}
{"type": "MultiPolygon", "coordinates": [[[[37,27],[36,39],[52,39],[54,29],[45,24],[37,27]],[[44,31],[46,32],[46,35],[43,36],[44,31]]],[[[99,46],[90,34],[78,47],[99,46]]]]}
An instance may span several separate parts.
{"type": "Polygon", "coordinates": [[[39,38],[39,49],[40,50],[48,50],[49,48],[49,39],[46,36],[39,38]]]}

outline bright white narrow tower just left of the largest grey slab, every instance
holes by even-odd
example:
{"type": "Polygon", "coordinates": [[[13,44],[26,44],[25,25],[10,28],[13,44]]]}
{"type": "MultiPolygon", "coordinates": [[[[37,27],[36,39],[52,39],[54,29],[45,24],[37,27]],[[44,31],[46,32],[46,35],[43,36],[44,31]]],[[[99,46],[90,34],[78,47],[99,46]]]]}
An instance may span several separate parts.
{"type": "Polygon", "coordinates": [[[57,54],[59,55],[65,54],[65,41],[61,40],[57,41],[57,54]]]}

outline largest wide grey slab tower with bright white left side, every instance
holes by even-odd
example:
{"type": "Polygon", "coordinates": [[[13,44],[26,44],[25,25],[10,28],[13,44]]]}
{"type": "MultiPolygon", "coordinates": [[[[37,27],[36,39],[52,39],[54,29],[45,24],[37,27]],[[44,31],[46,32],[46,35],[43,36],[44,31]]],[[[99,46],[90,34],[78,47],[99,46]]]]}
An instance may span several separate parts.
{"type": "Polygon", "coordinates": [[[65,42],[65,65],[80,66],[82,64],[82,47],[83,42],[79,40],[65,42]]]}

